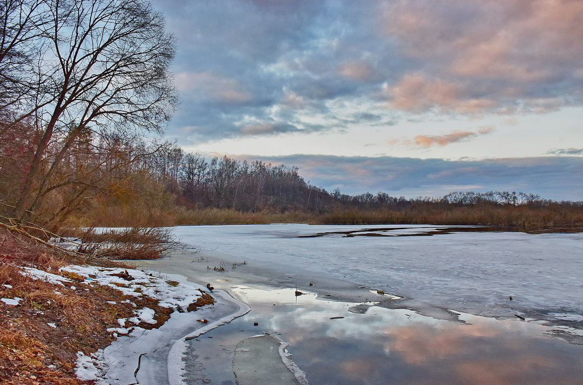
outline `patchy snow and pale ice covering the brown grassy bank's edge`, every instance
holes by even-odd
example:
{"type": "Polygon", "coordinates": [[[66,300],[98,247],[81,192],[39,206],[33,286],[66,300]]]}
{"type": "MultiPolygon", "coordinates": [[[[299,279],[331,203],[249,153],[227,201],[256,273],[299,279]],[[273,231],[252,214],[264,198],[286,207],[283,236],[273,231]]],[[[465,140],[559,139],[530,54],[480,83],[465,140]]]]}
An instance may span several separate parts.
{"type": "Polygon", "coordinates": [[[195,312],[185,311],[207,289],[188,282],[181,275],[128,269],[123,274],[133,279],[126,281],[109,275],[120,269],[67,266],[62,271],[79,274],[85,277],[86,282],[115,287],[128,296],[151,296],[160,301],[160,306],[177,310],[159,329],[147,330],[136,325],[140,322],[155,324],[153,310],[136,308],[135,317],[120,319],[119,328],[108,330],[114,333],[117,341],[89,356],[80,352],[76,374],[79,379],[96,380],[99,384],[180,383],[180,376],[177,376],[175,369],[181,368],[184,337],[205,333],[249,311],[246,305],[231,299],[222,291],[213,292],[216,302],[212,306],[205,306],[195,312]],[[202,323],[202,319],[207,320],[208,324],[202,323]],[[176,344],[177,341],[180,343],[176,344]]]}

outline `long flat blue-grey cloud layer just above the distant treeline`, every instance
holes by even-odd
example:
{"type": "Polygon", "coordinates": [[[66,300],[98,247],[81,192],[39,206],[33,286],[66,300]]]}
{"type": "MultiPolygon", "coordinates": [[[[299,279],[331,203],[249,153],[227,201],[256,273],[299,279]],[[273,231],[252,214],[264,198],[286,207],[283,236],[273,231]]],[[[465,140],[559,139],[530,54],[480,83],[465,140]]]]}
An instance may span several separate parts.
{"type": "Polygon", "coordinates": [[[442,160],[397,157],[304,155],[237,156],[295,165],[310,183],[351,195],[384,191],[394,196],[443,196],[455,190],[508,190],[546,199],[583,200],[580,157],[442,160]]]}

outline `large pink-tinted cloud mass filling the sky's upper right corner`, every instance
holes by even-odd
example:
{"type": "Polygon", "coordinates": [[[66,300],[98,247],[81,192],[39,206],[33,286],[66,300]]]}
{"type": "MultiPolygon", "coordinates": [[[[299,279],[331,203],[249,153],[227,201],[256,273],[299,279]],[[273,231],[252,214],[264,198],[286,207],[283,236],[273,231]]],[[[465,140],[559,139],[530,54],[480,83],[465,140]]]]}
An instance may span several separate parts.
{"type": "Polygon", "coordinates": [[[416,93],[405,87],[415,75],[391,84],[394,108],[547,112],[581,95],[583,1],[398,0],[381,6],[382,34],[419,60],[426,78],[416,93]],[[455,94],[440,94],[439,84],[454,84],[455,94]],[[431,97],[432,88],[438,92],[431,97]],[[556,101],[538,100],[549,90],[556,101]]]}

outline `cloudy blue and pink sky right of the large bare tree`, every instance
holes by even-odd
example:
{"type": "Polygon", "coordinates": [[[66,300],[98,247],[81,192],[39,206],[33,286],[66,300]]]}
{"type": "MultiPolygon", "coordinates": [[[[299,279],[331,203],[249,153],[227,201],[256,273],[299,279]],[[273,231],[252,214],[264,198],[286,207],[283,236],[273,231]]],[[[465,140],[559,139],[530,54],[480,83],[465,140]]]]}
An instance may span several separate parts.
{"type": "Polygon", "coordinates": [[[153,0],[184,150],[351,195],[583,200],[581,0],[153,0]]]}

